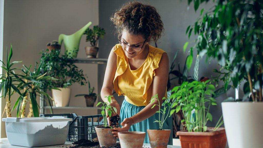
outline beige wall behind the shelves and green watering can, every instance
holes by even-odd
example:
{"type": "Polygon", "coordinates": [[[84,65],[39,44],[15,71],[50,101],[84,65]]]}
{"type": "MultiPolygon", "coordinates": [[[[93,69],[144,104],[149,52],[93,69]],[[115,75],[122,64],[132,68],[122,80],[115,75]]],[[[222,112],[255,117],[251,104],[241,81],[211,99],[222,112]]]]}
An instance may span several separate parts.
{"type": "MultiPolygon", "coordinates": [[[[1,13],[2,15],[3,13],[1,13]]],[[[91,27],[98,25],[99,20],[98,0],[7,0],[4,3],[4,49],[10,49],[10,43],[13,46],[12,61],[23,61],[24,65],[30,65],[39,61],[39,52],[46,49],[47,42],[58,40],[60,33],[72,34],[82,28],[89,21],[91,27]]],[[[79,46],[79,58],[85,58],[84,47],[89,43],[85,42],[85,36],[82,37],[79,46]]],[[[4,50],[3,55],[6,55],[4,50]]],[[[64,46],[62,46],[64,53],[64,46]]],[[[1,55],[0,55],[1,56],[1,55]]],[[[5,60],[5,58],[4,58],[5,60]]],[[[98,66],[77,64],[79,68],[89,77],[90,83],[95,87],[98,93],[98,66]]],[[[16,65],[22,68],[22,64],[16,65]]],[[[75,98],[80,93],[87,93],[88,86],[74,84],[71,86],[70,106],[85,106],[84,97],[75,98]]],[[[17,96],[11,98],[13,106],[17,96]]],[[[2,99],[2,110],[5,101],[2,99]]],[[[26,114],[28,112],[28,106],[26,114]]],[[[54,113],[76,112],[79,115],[94,114],[89,110],[54,110],[54,113]]],[[[16,111],[12,112],[12,116],[16,111]]],[[[4,116],[5,117],[5,116],[4,116]]],[[[5,137],[4,124],[1,126],[1,137],[5,137]]]]}

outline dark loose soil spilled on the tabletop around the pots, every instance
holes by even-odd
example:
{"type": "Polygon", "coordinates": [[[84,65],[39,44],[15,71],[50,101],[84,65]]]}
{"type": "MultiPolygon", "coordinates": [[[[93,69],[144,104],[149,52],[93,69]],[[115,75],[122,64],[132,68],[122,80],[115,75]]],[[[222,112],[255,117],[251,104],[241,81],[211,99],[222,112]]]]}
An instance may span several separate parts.
{"type": "MultiPolygon", "coordinates": [[[[81,139],[77,142],[74,142],[73,146],[70,146],[69,148],[101,148],[101,147],[99,146],[99,141],[92,142],[90,140],[81,139]]],[[[120,148],[120,143],[118,142],[116,143],[115,146],[111,146],[110,148],[120,148]]]]}

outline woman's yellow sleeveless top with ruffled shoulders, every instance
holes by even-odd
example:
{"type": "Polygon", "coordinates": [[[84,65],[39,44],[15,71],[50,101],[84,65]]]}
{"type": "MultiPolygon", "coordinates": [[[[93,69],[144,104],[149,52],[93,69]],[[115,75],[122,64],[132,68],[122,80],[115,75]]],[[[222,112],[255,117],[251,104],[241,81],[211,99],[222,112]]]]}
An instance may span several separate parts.
{"type": "MultiPolygon", "coordinates": [[[[136,70],[130,69],[128,57],[120,44],[115,45],[114,52],[117,55],[117,70],[113,80],[115,92],[119,96],[124,95],[125,100],[133,105],[148,105],[152,97],[154,70],[158,68],[162,54],[165,51],[149,45],[146,60],[136,70]]],[[[167,97],[166,91],[165,97],[167,97]]]]}

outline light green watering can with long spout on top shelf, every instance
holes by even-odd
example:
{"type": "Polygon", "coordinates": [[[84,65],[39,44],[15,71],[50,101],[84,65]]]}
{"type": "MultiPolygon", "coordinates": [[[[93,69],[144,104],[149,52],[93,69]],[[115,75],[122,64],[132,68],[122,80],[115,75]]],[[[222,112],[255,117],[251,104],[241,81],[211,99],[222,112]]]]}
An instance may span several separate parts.
{"type": "Polygon", "coordinates": [[[87,25],[85,25],[84,27],[82,27],[77,32],[71,35],[59,34],[58,43],[61,45],[62,41],[64,41],[65,54],[68,55],[68,57],[73,57],[73,58],[77,57],[79,51],[80,39],[83,33],[91,24],[92,22],[89,22],[87,25]]]}

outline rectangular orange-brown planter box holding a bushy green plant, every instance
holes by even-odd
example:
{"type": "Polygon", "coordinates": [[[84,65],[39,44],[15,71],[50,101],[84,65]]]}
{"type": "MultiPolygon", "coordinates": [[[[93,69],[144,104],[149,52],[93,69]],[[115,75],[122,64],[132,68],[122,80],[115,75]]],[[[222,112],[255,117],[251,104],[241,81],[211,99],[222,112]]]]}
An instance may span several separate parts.
{"type": "Polygon", "coordinates": [[[188,132],[178,131],[182,148],[225,148],[226,132],[225,128],[218,128],[213,132],[213,127],[209,127],[208,132],[188,132]]]}

